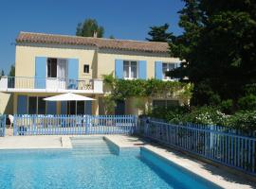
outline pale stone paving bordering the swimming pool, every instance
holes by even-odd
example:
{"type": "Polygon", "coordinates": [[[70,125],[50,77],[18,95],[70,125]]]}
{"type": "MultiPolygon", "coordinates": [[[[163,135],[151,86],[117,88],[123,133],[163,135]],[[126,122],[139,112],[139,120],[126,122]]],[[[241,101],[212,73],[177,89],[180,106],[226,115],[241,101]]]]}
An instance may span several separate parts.
{"type": "MultiPolygon", "coordinates": [[[[162,146],[156,146],[147,142],[141,141],[137,137],[124,135],[94,135],[103,136],[106,140],[111,141],[119,149],[130,147],[145,147],[151,150],[161,158],[167,159],[176,163],[193,173],[200,175],[206,180],[211,180],[223,188],[256,188],[256,182],[244,179],[244,175],[230,174],[225,169],[220,169],[217,166],[209,163],[202,163],[194,160],[191,157],[162,146]]],[[[78,136],[73,137],[94,137],[94,136],[78,136]]],[[[26,149],[26,148],[72,148],[70,136],[7,136],[0,138],[0,149],[26,149]]]]}

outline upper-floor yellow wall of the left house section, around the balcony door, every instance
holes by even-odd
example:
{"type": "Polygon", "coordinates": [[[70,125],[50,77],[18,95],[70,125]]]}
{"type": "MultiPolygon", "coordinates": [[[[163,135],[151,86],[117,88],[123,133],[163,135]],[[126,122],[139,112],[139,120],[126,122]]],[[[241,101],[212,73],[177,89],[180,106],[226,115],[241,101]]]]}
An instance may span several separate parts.
{"type": "Polygon", "coordinates": [[[23,43],[16,45],[15,77],[35,77],[35,57],[78,59],[79,78],[96,75],[97,53],[93,47],[23,43]],[[83,64],[89,64],[89,74],[83,74],[83,64]]]}

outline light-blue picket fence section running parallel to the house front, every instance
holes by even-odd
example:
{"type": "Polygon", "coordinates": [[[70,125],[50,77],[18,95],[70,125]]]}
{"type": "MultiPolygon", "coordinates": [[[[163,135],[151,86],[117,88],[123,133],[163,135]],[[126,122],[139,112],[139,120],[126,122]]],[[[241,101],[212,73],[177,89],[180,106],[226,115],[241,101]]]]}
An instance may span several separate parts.
{"type": "Polygon", "coordinates": [[[14,115],[13,135],[133,134],[134,115],[14,115]]]}

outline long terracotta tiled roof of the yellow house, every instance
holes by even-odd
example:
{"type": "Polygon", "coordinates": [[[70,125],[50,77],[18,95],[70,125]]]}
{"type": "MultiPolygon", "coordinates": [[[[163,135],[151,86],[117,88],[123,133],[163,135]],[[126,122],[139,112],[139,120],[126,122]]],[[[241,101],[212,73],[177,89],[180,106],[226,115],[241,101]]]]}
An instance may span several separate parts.
{"type": "Polygon", "coordinates": [[[92,37],[78,37],[67,35],[54,35],[45,33],[20,32],[17,43],[57,43],[57,44],[80,44],[93,45],[101,48],[135,50],[144,52],[161,52],[169,51],[168,43],[159,42],[142,42],[131,40],[104,39],[92,37]]]}

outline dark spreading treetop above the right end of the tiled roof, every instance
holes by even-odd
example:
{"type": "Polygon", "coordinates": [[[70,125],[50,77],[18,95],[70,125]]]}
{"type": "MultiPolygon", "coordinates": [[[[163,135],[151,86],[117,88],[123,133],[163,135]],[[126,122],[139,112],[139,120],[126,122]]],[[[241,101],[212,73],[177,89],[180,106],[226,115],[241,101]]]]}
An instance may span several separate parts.
{"type": "Polygon", "coordinates": [[[173,37],[173,33],[168,32],[169,25],[163,26],[151,26],[148,35],[151,38],[146,38],[149,42],[170,42],[173,37]]]}

